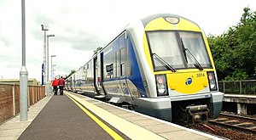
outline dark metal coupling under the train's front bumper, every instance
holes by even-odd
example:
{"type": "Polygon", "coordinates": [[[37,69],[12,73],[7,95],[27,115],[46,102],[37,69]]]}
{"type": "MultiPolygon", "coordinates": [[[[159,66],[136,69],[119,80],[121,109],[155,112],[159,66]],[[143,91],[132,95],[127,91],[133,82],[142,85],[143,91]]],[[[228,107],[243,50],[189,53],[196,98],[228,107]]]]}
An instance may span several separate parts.
{"type": "Polygon", "coordinates": [[[209,109],[207,105],[189,105],[186,112],[191,116],[192,124],[206,123],[208,121],[209,109]]]}

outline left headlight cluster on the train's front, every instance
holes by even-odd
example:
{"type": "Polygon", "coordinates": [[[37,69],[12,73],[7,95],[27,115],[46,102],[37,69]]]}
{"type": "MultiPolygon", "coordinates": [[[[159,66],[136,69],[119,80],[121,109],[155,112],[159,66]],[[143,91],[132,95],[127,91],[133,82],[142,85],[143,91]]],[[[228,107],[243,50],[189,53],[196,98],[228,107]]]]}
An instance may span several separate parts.
{"type": "Polygon", "coordinates": [[[156,82],[157,96],[168,95],[166,75],[155,76],[155,82],[156,82]]]}

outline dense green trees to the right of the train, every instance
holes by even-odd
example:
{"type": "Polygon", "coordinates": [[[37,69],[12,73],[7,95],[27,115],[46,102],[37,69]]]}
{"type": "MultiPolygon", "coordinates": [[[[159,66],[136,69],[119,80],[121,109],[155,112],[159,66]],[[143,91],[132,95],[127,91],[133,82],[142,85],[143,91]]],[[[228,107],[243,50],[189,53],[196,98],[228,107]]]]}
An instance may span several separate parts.
{"type": "Polygon", "coordinates": [[[244,8],[240,21],[221,36],[208,36],[219,80],[255,79],[256,13],[244,8]]]}

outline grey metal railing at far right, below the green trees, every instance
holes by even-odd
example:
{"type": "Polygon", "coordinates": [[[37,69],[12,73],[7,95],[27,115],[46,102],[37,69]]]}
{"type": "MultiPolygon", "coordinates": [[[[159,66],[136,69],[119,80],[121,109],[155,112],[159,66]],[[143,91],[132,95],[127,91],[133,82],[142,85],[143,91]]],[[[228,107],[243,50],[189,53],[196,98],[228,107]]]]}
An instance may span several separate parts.
{"type": "Polygon", "coordinates": [[[218,90],[224,93],[256,95],[256,80],[218,81],[218,90]]]}

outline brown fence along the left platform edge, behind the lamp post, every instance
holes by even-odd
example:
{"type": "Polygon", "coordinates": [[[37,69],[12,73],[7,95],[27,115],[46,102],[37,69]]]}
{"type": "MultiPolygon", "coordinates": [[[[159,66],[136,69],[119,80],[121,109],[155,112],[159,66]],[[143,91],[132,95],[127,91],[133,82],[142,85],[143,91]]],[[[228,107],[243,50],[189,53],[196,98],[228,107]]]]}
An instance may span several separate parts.
{"type": "MultiPolygon", "coordinates": [[[[28,87],[28,107],[45,97],[42,86],[28,87]]],[[[20,113],[20,86],[0,83],[0,125],[20,113]]]]}

